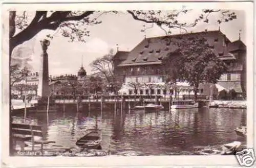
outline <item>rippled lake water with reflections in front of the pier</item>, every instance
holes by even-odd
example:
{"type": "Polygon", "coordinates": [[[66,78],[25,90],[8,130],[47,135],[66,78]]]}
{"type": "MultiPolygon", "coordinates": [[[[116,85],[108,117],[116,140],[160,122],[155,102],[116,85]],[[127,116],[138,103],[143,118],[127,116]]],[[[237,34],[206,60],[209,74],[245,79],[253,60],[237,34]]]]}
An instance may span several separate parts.
{"type": "MultiPolygon", "coordinates": [[[[234,128],[246,124],[242,109],[185,109],[143,113],[143,111],[59,111],[28,114],[32,124],[44,125],[46,139],[57,146],[71,148],[87,129],[102,130],[102,149],[137,151],[144,155],[191,155],[197,147],[219,146],[234,140],[245,145],[246,139],[234,128]]],[[[23,122],[22,115],[13,117],[23,122]]]]}

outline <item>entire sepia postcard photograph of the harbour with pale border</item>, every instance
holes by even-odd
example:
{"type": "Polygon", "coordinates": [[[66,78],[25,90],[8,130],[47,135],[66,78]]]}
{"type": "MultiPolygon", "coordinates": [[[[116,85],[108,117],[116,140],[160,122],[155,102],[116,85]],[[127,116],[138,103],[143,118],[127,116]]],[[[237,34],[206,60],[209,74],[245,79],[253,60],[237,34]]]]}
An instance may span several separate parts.
{"type": "Polygon", "coordinates": [[[8,156],[254,163],[252,16],[241,4],[149,4],[8,8],[8,156]]]}

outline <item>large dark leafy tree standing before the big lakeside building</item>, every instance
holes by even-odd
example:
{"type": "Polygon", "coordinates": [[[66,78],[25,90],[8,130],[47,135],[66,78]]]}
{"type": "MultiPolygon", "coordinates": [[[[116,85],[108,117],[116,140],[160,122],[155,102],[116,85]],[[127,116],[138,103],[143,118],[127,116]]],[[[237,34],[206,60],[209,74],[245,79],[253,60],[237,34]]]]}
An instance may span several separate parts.
{"type": "Polygon", "coordinates": [[[194,87],[195,99],[200,83],[217,83],[228,69],[203,37],[189,37],[179,43],[178,51],[184,60],[182,79],[194,87]]]}

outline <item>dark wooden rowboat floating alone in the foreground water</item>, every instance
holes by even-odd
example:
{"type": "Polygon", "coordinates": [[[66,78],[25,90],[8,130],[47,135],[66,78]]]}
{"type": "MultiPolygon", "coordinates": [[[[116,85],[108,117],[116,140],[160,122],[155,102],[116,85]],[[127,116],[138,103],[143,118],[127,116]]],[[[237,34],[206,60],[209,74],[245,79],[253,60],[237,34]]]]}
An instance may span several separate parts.
{"type": "Polygon", "coordinates": [[[99,148],[102,141],[102,133],[99,129],[88,129],[86,135],[76,141],[76,145],[82,148],[99,148]]]}

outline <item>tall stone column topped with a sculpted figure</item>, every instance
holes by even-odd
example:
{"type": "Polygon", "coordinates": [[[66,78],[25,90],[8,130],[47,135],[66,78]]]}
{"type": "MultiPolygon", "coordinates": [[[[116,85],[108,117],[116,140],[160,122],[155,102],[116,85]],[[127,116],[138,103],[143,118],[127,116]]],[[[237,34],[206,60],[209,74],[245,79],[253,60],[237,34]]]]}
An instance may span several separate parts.
{"type": "Polygon", "coordinates": [[[40,56],[40,69],[39,69],[39,82],[38,82],[37,95],[41,97],[41,101],[44,101],[44,100],[47,100],[50,94],[48,54],[47,54],[47,48],[50,45],[50,41],[44,39],[40,41],[40,43],[42,46],[42,54],[40,56]]]}

